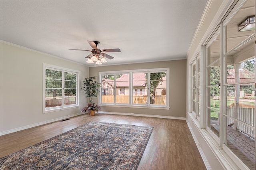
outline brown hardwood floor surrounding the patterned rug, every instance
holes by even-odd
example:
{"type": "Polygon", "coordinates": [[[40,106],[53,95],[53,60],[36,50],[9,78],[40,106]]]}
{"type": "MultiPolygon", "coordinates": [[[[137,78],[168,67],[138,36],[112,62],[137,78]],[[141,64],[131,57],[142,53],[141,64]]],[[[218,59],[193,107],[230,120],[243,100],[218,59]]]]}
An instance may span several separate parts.
{"type": "Polygon", "coordinates": [[[27,148],[91,121],[154,127],[138,170],[205,170],[184,120],[96,114],[80,115],[0,136],[0,157],[27,148]]]}

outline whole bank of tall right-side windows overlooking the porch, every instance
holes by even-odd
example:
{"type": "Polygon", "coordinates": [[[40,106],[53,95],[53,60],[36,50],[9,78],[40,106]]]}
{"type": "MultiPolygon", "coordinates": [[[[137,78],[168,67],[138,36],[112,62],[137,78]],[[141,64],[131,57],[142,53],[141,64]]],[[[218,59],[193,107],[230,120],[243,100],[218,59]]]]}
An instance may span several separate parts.
{"type": "Polygon", "coordinates": [[[254,0],[234,1],[202,44],[201,67],[198,56],[190,63],[190,115],[197,118],[201,106],[198,125],[206,141],[213,150],[221,148],[237,169],[255,169],[255,30],[237,29],[254,15],[254,0]]]}

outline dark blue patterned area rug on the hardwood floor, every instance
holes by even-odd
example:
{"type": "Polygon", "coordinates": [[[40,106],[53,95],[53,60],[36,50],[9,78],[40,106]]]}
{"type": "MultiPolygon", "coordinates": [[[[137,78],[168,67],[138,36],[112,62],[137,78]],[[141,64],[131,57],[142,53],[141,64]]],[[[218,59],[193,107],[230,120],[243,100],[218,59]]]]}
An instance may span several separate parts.
{"type": "Polygon", "coordinates": [[[0,170],[136,170],[152,130],[90,122],[1,158],[0,170]]]}

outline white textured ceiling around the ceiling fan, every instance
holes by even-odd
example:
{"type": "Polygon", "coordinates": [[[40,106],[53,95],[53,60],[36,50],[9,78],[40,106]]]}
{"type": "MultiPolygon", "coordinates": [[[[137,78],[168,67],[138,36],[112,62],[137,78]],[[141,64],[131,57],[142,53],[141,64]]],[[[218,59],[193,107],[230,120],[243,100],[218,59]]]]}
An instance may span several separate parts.
{"type": "Polygon", "coordinates": [[[87,66],[89,41],[108,53],[103,65],[185,59],[206,0],[0,1],[0,40],[87,66]]]}

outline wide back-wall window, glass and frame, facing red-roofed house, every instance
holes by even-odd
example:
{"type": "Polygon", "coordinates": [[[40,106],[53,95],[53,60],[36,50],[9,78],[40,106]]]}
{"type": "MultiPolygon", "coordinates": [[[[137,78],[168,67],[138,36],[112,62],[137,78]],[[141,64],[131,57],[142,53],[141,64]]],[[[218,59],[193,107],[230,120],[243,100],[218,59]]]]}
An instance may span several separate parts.
{"type": "Polygon", "coordinates": [[[102,83],[101,104],[168,107],[169,68],[99,74],[102,83]]]}

